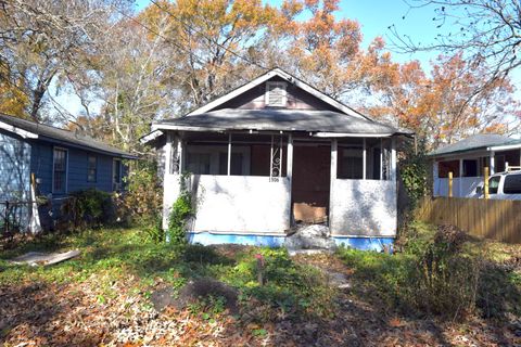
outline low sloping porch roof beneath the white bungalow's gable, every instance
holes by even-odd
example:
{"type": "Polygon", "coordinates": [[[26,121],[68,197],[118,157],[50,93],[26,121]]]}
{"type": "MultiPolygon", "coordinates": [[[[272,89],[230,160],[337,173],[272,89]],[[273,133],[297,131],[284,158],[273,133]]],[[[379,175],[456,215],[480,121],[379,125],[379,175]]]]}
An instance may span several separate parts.
{"type": "Polygon", "coordinates": [[[154,124],[153,129],[192,131],[266,130],[391,136],[408,133],[394,127],[332,111],[217,110],[154,124]]]}

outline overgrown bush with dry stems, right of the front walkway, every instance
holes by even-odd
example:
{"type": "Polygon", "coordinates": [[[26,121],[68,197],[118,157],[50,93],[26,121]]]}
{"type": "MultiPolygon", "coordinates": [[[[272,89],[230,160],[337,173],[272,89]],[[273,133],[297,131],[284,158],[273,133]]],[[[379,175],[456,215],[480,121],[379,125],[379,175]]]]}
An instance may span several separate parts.
{"type": "Polygon", "coordinates": [[[339,254],[374,300],[402,313],[457,319],[475,311],[483,269],[482,257],[463,252],[466,241],[463,232],[444,226],[431,233],[420,229],[401,254],[348,248],[339,254]]]}

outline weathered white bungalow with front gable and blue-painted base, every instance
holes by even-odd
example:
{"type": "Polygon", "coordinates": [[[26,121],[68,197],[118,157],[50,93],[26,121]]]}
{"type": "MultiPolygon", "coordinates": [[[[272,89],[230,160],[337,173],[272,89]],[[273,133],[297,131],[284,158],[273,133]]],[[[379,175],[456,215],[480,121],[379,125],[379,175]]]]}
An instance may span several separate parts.
{"type": "Polygon", "coordinates": [[[338,243],[396,235],[396,145],[407,134],[276,68],[142,139],[160,150],[164,227],[189,172],[191,242],[278,246],[298,222],[338,243]]]}

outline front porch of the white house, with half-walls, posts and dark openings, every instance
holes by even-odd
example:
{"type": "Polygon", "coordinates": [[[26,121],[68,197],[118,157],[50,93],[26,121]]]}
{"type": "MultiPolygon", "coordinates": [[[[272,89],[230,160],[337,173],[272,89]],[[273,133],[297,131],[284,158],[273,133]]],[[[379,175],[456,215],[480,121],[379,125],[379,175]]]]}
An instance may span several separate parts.
{"type": "Polygon", "coordinates": [[[180,172],[190,172],[192,242],[281,245],[300,222],[326,223],[338,243],[369,248],[396,234],[392,137],[167,131],[164,158],[164,227],[180,172]]]}

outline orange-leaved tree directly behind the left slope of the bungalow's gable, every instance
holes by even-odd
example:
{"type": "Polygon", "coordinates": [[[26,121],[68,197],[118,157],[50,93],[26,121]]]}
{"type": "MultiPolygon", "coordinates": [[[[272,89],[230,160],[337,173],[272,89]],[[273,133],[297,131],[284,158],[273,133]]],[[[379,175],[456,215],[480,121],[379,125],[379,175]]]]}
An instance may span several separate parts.
{"type": "Polygon", "coordinates": [[[181,93],[185,112],[247,81],[249,72],[266,70],[246,57],[247,51],[281,15],[259,0],[153,0],[139,18],[155,28],[165,14],[169,29],[162,36],[178,56],[170,83],[181,93]]]}

